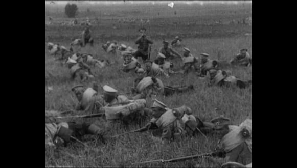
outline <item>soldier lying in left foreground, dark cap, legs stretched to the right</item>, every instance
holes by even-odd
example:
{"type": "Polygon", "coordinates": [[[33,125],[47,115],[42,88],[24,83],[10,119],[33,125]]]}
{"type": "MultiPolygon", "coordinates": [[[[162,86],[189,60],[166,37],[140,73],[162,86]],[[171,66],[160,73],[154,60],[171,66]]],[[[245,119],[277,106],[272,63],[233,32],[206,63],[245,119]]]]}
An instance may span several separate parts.
{"type": "Polygon", "coordinates": [[[106,130],[95,124],[85,122],[45,123],[45,146],[66,145],[71,139],[81,139],[86,134],[96,135],[103,143],[110,137],[106,130]]]}

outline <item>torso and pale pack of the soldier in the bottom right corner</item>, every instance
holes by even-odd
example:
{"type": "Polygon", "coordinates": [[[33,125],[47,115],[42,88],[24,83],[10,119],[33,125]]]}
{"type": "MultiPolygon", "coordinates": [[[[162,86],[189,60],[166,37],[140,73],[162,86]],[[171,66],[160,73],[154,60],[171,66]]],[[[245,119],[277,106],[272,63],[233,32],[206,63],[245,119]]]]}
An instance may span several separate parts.
{"type": "Polygon", "coordinates": [[[226,153],[225,158],[215,159],[217,162],[227,162],[223,167],[237,162],[249,166],[252,164],[252,120],[246,119],[239,126],[232,126],[218,143],[218,148],[226,153]]]}

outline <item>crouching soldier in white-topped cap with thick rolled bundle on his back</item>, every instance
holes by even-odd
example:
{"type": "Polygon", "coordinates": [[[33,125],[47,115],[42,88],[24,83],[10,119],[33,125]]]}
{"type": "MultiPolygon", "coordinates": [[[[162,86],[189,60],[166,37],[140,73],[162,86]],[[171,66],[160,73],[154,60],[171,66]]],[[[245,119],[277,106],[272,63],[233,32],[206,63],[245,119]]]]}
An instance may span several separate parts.
{"type": "Polygon", "coordinates": [[[117,92],[107,85],[103,86],[103,98],[107,105],[102,108],[107,120],[107,127],[110,126],[110,123],[118,120],[128,124],[148,115],[143,110],[146,105],[145,99],[128,99],[126,96],[118,95],[117,92]]]}

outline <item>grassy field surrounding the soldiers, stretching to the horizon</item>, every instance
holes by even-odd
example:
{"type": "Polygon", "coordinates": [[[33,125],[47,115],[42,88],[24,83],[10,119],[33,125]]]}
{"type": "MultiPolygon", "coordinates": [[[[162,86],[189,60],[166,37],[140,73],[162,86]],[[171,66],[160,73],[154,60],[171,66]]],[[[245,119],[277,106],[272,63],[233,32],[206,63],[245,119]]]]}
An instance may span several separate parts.
{"type": "MultiPolygon", "coordinates": [[[[85,9],[87,7],[79,7],[79,9],[85,9]]],[[[140,7],[139,7],[140,8],[140,7]]],[[[144,8],[144,7],[141,7],[144,8]]],[[[198,7],[197,7],[198,8],[198,7]]],[[[135,74],[119,72],[123,61],[119,55],[108,55],[101,48],[102,42],[106,40],[116,40],[119,43],[123,43],[127,46],[136,48],[134,39],[138,36],[136,31],[139,26],[124,25],[121,29],[113,30],[110,27],[113,24],[112,17],[125,17],[125,15],[132,15],[127,11],[136,10],[136,7],[115,7],[110,10],[110,6],[90,7],[90,11],[94,11],[92,15],[89,15],[91,19],[100,15],[95,9],[102,9],[101,24],[94,25],[92,27],[93,36],[95,37],[96,45],[94,48],[89,46],[82,48],[82,52],[92,53],[96,55],[98,59],[109,59],[111,62],[115,61],[110,67],[103,69],[93,69],[93,72],[97,76],[95,81],[100,86],[109,85],[119,90],[119,93],[128,92],[128,88],[132,86],[135,74]],[[104,11],[104,10],[105,11],[104,11]],[[109,9],[109,10],[108,10],[109,9]],[[103,13],[109,11],[112,16],[103,16],[103,13]],[[125,12],[126,11],[126,12],[125,12]]],[[[220,60],[229,61],[234,54],[236,54],[241,48],[248,48],[248,52],[252,55],[252,36],[244,36],[245,33],[252,33],[252,26],[243,24],[223,24],[223,25],[203,25],[203,22],[210,20],[219,20],[223,18],[240,20],[244,17],[251,15],[251,7],[242,6],[238,7],[205,7],[199,6],[199,13],[189,12],[190,14],[180,14],[181,16],[175,16],[174,14],[168,14],[163,7],[154,9],[155,12],[159,10],[162,15],[159,17],[149,15],[151,24],[149,27],[149,35],[152,37],[154,44],[152,46],[152,58],[156,57],[155,49],[162,46],[162,38],[172,40],[174,36],[181,35],[183,38],[182,43],[185,44],[192,52],[194,56],[199,56],[201,52],[207,52],[210,54],[211,59],[218,59],[218,53],[220,53],[220,60]],[[203,9],[203,10],[202,10],[203,9]],[[216,12],[214,12],[216,10],[216,12]],[[218,12],[219,11],[219,12],[218,12]],[[226,17],[222,15],[221,11],[225,12],[226,17]],[[247,12],[249,11],[249,12],[247,12]],[[232,14],[229,14],[231,12],[232,14]],[[180,20],[180,24],[176,27],[170,26],[170,24],[159,25],[161,22],[174,22],[180,20]],[[187,26],[188,22],[194,22],[202,20],[201,24],[187,26]],[[195,33],[196,32],[196,33],[195,33]],[[159,34],[162,34],[159,35],[159,34]]],[[[166,8],[168,9],[168,8],[166,8]]],[[[184,5],[177,6],[177,13],[182,11],[193,11],[193,6],[184,5]]],[[[62,8],[61,8],[62,10],[62,8]]],[[[143,10],[137,17],[143,18],[147,13],[143,10]]],[[[152,12],[152,10],[151,10],[152,12]]],[[[65,18],[62,12],[55,13],[55,8],[45,6],[45,19],[49,16],[54,16],[57,20],[69,20],[65,18]]],[[[83,18],[87,16],[84,11],[80,12],[80,16],[83,18]]],[[[55,19],[54,18],[54,19],[55,19]]],[[[227,21],[227,20],[226,20],[227,21]]],[[[60,43],[66,47],[69,47],[71,39],[78,35],[82,31],[81,26],[45,26],[45,42],[60,43]]],[[[182,49],[177,49],[181,52],[182,49]]],[[[199,56],[200,57],[200,56],[199,56]]],[[[178,60],[174,61],[175,69],[179,69],[182,63],[178,60]]],[[[252,68],[233,67],[230,69],[232,73],[243,79],[252,79],[252,68]]],[[[252,88],[249,89],[237,89],[237,88],[219,88],[219,87],[207,87],[207,80],[199,79],[195,74],[190,73],[186,76],[178,74],[173,75],[170,78],[161,77],[164,85],[190,85],[193,84],[195,91],[184,94],[174,94],[169,97],[157,96],[158,100],[161,100],[171,108],[181,105],[188,105],[194,111],[194,115],[202,119],[203,121],[209,121],[219,115],[224,115],[232,120],[233,124],[240,124],[247,117],[252,119],[252,88]]],[[[45,49],[45,109],[54,110],[67,110],[73,109],[77,103],[75,95],[71,92],[71,88],[75,85],[83,84],[86,87],[92,86],[92,81],[81,83],[79,81],[70,81],[70,75],[68,69],[62,66],[59,62],[55,62],[54,58],[45,49]],[[49,75],[49,73],[51,75],[49,75]],[[52,91],[47,91],[47,88],[52,86],[52,91]]],[[[132,95],[127,95],[128,97],[132,95]]],[[[151,100],[147,99],[148,106],[151,105],[151,100]]],[[[104,120],[99,119],[85,119],[86,121],[94,121],[98,125],[104,125],[104,120]]],[[[65,120],[64,120],[65,121],[65,120]]],[[[71,120],[66,120],[71,121],[71,120]]],[[[82,121],[82,119],[76,119],[75,121],[82,121]]],[[[149,121],[149,119],[147,119],[149,121]]],[[[147,122],[146,121],[146,122],[147,122]]],[[[146,124],[146,122],[140,123],[140,125],[130,125],[125,127],[121,124],[115,124],[110,134],[120,134],[129,130],[140,128],[146,124]]],[[[131,164],[139,161],[155,160],[155,159],[170,159],[180,156],[188,156],[194,154],[202,154],[210,152],[215,146],[218,139],[209,137],[207,142],[203,136],[188,137],[183,142],[172,142],[170,144],[161,144],[155,141],[151,133],[158,134],[158,131],[148,131],[143,133],[133,133],[121,136],[117,139],[112,139],[107,144],[101,144],[96,142],[92,136],[85,136],[83,141],[90,146],[84,148],[78,143],[69,144],[67,147],[62,147],[59,151],[46,148],[45,150],[45,166],[76,166],[76,167],[97,167],[97,166],[132,166],[131,164]],[[63,151],[63,152],[61,152],[63,151]]],[[[177,166],[189,166],[189,167],[215,167],[219,166],[209,159],[194,159],[188,161],[181,161],[177,163],[148,163],[142,165],[133,166],[145,166],[145,167],[177,167],[177,166]]]]}

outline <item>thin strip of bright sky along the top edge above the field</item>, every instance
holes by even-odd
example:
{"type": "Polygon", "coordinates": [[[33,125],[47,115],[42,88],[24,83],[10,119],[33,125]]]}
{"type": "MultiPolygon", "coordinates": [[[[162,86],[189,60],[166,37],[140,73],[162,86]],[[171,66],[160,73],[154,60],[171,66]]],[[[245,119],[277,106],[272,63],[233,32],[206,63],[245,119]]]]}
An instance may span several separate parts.
{"type": "MultiPolygon", "coordinates": [[[[54,2],[56,5],[65,5],[67,3],[89,3],[89,4],[166,4],[166,3],[183,3],[183,4],[240,4],[240,3],[252,3],[252,1],[45,1],[45,4],[54,2]]],[[[52,4],[52,3],[51,3],[52,4]]],[[[54,4],[52,4],[54,5],[54,4]]]]}

